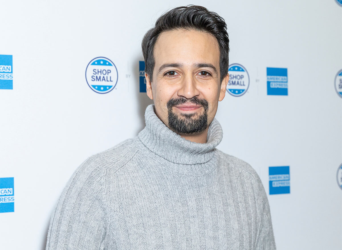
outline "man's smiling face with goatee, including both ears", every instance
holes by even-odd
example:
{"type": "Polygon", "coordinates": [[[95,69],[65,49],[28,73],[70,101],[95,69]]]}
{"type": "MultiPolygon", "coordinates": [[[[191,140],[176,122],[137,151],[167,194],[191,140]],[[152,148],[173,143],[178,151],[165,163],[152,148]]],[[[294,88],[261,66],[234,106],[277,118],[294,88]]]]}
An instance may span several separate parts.
{"type": "Polygon", "coordinates": [[[154,47],[153,82],[147,95],[156,114],[180,135],[196,135],[214,119],[229,75],[220,82],[220,50],[214,36],[196,30],[162,32],[154,47]]]}

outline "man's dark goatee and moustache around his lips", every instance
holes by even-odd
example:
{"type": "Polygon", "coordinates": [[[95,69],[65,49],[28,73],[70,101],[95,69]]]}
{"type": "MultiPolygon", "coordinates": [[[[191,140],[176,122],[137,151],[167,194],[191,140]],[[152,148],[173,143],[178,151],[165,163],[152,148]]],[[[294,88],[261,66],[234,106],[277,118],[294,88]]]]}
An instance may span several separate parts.
{"type": "Polygon", "coordinates": [[[191,99],[186,99],[183,97],[170,99],[167,103],[169,128],[181,135],[198,134],[202,132],[207,128],[208,125],[208,106],[207,100],[198,99],[196,96],[191,99]],[[193,116],[196,116],[196,113],[177,115],[172,111],[172,107],[187,102],[201,105],[204,109],[203,114],[199,115],[197,118],[194,118],[193,116]]]}

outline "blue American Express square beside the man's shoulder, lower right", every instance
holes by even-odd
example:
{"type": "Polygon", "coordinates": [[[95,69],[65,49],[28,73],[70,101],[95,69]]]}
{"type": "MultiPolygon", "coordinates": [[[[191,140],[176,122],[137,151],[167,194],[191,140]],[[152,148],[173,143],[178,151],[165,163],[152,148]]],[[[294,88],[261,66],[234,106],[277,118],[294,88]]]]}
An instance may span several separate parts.
{"type": "Polygon", "coordinates": [[[269,194],[290,193],[290,166],[269,167],[269,194]]]}

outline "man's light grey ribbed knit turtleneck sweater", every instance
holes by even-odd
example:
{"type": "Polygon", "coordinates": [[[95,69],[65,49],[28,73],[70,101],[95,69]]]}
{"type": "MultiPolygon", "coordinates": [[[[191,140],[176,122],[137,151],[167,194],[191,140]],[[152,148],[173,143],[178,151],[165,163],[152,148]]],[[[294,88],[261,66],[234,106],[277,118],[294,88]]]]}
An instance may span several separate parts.
{"type": "Polygon", "coordinates": [[[154,106],[133,139],[89,157],[53,212],[47,249],[276,249],[264,187],[246,162],[188,141],[154,106]]]}

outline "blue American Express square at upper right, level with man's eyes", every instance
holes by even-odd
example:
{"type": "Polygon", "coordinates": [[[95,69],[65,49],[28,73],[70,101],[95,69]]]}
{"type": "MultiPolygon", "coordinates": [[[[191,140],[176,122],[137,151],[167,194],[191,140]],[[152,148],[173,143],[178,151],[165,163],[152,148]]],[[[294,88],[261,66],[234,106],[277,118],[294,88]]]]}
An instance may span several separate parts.
{"type": "Polygon", "coordinates": [[[267,95],[287,96],[287,68],[267,68],[267,95]]]}

